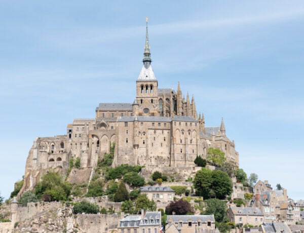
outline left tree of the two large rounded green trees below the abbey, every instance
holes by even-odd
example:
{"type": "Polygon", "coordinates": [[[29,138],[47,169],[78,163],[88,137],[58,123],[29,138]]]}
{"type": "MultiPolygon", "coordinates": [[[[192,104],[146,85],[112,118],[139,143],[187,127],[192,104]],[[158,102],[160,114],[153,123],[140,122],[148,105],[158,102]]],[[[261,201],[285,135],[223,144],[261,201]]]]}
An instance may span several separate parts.
{"type": "Polygon", "coordinates": [[[196,195],[204,197],[204,199],[210,198],[210,191],[212,185],[212,172],[207,168],[202,168],[195,174],[193,184],[196,189],[196,195]]]}

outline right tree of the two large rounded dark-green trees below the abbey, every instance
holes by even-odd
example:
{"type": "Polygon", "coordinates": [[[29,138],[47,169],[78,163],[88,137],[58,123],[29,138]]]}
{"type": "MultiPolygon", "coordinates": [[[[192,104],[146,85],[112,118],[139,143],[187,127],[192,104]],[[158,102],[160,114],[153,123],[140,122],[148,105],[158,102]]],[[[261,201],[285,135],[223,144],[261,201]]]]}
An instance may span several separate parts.
{"type": "Polygon", "coordinates": [[[211,172],[211,177],[211,188],[214,191],[216,198],[225,199],[226,196],[231,195],[233,185],[227,173],[220,170],[214,170],[211,172]]]}

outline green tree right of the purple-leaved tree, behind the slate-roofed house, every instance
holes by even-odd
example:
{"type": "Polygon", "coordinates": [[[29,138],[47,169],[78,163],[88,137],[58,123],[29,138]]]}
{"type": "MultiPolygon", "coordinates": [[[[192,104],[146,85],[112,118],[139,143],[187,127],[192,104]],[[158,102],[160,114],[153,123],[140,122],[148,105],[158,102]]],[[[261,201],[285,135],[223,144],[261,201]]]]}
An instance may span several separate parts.
{"type": "Polygon", "coordinates": [[[209,199],[204,201],[206,203],[206,209],[203,214],[210,215],[214,214],[215,221],[227,222],[228,218],[226,215],[226,202],[218,199],[209,199]]]}

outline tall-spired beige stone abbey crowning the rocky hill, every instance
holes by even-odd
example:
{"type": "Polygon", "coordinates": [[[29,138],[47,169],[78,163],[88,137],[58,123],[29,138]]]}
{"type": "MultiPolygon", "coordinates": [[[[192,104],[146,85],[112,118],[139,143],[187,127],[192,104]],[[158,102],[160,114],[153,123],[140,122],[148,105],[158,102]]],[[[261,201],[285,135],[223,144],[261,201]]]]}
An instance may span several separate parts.
{"type": "Polygon", "coordinates": [[[38,137],[26,161],[24,188],[33,187],[51,168],[68,168],[70,158],[81,159],[81,167],[93,173],[98,159],[115,143],[113,166],[194,167],[199,155],[206,158],[209,147],[225,152],[227,161],[239,163],[234,141],[225,135],[223,120],[206,127],[197,114],[194,97],[183,98],[177,90],[159,88],[151,67],[148,28],[143,66],[136,80],[136,96],[130,103],[99,103],[94,119],[75,119],[66,135],[38,137]]]}

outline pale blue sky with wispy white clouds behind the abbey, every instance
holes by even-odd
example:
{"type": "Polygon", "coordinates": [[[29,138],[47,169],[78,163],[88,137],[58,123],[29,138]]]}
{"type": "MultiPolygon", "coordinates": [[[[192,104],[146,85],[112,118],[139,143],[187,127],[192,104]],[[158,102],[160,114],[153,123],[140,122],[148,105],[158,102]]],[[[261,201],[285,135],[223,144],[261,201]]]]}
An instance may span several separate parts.
{"type": "Polygon", "coordinates": [[[133,102],[149,17],[160,88],[195,96],[240,167],[304,199],[303,1],[0,2],[0,191],[24,175],[36,136],[133,102]]]}

